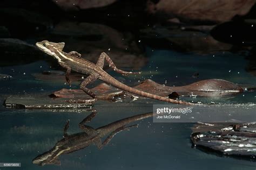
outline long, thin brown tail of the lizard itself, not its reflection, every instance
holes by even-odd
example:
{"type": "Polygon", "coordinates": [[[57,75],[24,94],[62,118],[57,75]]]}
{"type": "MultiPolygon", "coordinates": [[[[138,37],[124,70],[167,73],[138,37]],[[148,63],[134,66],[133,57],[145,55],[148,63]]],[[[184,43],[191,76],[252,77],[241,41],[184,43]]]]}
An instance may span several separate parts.
{"type": "Polygon", "coordinates": [[[126,86],[125,84],[117,81],[116,79],[114,79],[110,75],[108,75],[107,77],[104,77],[104,78],[105,79],[101,79],[101,80],[103,80],[103,81],[105,81],[105,82],[107,82],[109,84],[112,84],[112,86],[114,86],[114,87],[117,87],[117,88],[119,88],[121,90],[128,91],[129,93],[132,93],[132,94],[135,94],[135,95],[139,95],[139,96],[143,96],[143,97],[148,97],[148,98],[153,98],[155,100],[169,102],[169,103],[195,105],[194,103],[188,103],[188,102],[173,100],[171,98],[166,98],[166,97],[154,95],[154,94],[151,94],[151,93],[147,93],[145,91],[141,91],[141,90],[137,90],[137,89],[131,88],[131,87],[126,86]]]}

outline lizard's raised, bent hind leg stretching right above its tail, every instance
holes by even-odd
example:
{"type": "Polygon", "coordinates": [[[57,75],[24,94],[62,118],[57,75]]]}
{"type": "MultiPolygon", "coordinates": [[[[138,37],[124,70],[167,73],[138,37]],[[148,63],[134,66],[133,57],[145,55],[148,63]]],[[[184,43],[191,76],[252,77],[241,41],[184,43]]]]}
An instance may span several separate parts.
{"type": "Polygon", "coordinates": [[[123,75],[129,75],[129,74],[140,74],[141,72],[126,72],[122,69],[118,69],[116,65],[114,65],[113,61],[110,59],[109,55],[106,53],[101,53],[99,56],[99,59],[96,63],[96,65],[100,68],[103,68],[104,66],[104,60],[106,59],[107,63],[109,63],[109,67],[111,67],[115,72],[123,74],[123,75]]]}

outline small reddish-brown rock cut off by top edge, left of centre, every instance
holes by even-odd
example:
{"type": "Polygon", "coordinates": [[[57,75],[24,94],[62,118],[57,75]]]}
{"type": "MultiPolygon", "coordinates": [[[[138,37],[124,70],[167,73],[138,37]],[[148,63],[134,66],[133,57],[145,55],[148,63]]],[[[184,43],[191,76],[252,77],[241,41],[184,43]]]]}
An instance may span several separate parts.
{"type": "Polygon", "coordinates": [[[76,0],[52,0],[54,3],[56,3],[60,8],[64,10],[78,10],[78,9],[90,9],[90,8],[100,8],[103,6],[110,5],[117,0],[82,0],[82,1],[76,1],[76,0]]]}

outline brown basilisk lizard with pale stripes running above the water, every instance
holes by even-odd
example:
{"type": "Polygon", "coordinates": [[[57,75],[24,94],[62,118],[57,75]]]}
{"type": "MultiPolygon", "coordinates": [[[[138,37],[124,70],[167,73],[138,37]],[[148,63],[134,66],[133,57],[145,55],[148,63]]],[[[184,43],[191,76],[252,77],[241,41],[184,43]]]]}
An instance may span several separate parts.
{"type": "Polygon", "coordinates": [[[170,103],[177,103],[177,104],[192,104],[188,102],[183,102],[183,101],[177,101],[173,100],[171,98],[167,97],[162,97],[150,93],[146,93],[145,91],[137,90],[134,88],[131,88],[129,86],[126,86],[125,84],[117,81],[114,79],[111,75],[107,74],[103,70],[104,66],[104,60],[109,63],[109,66],[116,71],[117,73],[123,74],[123,75],[129,75],[129,74],[140,74],[140,72],[126,72],[124,70],[118,69],[113,61],[110,59],[110,57],[106,53],[102,53],[99,56],[99,59],[97,63],[92,63],[90,61],[87,61],[83,58],[81,58],[81,54],[75,51],[71,51],[69,53],[63,52],[63,48],[65,46],[64,42],[50,42],[47,40],[43,40],[41,42],[37,42],[36,46],[41,49],[43,52],[46,54],[49,54],[53,56],[55,59],[58,60],[58,63],[60,66],[63,68],[66,68],[66,81],[71,85],[71,81],[69,79],[69,75],[71,73],[71,70],[74,70],[75,72],[83,73],[86,75],[89,75],[86,77],[86,79],[80,84],[80,88],[88,95],[90,95],[93,98],[97,98],[96,95],[89,89],[86,88],[86,86],[93,81],[99,79],[102,80],[106,83],[111,84],[114,87],[117,87],[121,90],[128,91],[132,94],[143,96],[143,97],[148,97],[148,98],[153,98],[159,101],[165,101],[165,102],[170,102],[170,103]]]}

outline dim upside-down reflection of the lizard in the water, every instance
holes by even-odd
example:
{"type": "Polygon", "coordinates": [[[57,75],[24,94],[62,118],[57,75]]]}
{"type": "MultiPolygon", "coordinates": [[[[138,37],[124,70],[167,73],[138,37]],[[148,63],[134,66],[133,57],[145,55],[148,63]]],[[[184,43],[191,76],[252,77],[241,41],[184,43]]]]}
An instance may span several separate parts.
{"type": "Polygon", "coordinates": [[[90,122],[91,119],[95,116],[96,111],[92,111],[89,116],[87,116],[82,122],[79,123],[79,128],[83,130],[83,132],[70,135],[67,133],[69,128],[69,121],[67,121],[64,127],[64,138],[59,140],[51,150],[38,155],[35,159],[33,159],[33,164],[41,166],[47,164],[60,165],[60,155],[81,150],[82,148],[85,148],[91,144],[95,144],[99,149],[101,149],[103,146],[109,143],[109,141],[114,137],[116,133],[138,126],[138,124],[126,126],[127,124],[139,121],[144,118],[152,117],[153,113],[150,112],[120,119],[119,121],[102,126],[98,129],[93,129],[91,126],[85,125],[86,122],[90,122]],[[107,137],[102,142],[101,138],[105,136],[107,137]]]}

